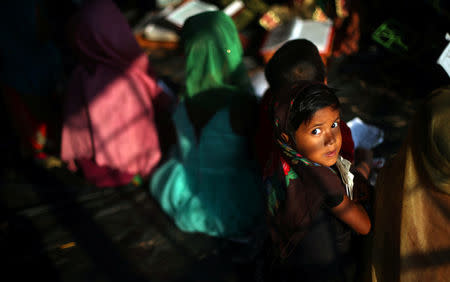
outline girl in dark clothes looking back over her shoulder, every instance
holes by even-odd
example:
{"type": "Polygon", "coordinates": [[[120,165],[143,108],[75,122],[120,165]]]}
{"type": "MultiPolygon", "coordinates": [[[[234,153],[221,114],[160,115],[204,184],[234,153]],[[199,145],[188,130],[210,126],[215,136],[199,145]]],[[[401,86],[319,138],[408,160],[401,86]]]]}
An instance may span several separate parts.
{"type": "Polygon", "coordinates": [[[277,281],[348,281],[352,230],[371,223],[359,204],[357,178],[341,157],[335,90],[300,81],[273,96],[275,148],[265,168],[271,275],[277,281]],[[355,180],[355,181],[354,181],[355,180]]]}

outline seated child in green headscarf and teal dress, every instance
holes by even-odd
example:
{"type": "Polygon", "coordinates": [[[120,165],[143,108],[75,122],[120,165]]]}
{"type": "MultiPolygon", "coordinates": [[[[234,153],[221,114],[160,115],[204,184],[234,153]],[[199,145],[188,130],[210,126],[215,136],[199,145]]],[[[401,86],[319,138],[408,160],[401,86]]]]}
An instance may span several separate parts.
{"type": "Polygon", "coordinates": [[[177,142],[150,192],[183,231],[247,238],[264,212],[250,140],[232,127],[235,102],[245,104],[249,96],[239,95],[251,90],[238,33],[222,12],[206,12],[186,21],[182,40],[187,92],[173,115],[177,142]]]}

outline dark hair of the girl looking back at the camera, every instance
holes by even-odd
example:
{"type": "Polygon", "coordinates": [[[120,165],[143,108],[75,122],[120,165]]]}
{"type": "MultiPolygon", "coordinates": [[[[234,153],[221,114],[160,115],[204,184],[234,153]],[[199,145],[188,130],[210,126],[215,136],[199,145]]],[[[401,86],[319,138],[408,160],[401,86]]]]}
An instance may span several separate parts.
{"type": "Polygon", "coordinates": [[[314,113],[325,107],[340,109],[336,90],[323,83],[302,81],[289,90],[289,97],[295,97],[289,111],[289,129],[294,132],[303,122],[309,122],[314,113]]]}

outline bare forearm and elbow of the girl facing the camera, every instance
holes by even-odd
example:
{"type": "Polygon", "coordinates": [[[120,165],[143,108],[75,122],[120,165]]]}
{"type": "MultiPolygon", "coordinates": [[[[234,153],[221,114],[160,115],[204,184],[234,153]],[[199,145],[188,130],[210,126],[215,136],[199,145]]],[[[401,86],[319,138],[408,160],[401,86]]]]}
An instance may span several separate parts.
{"type": "Polygon", "coordinates": [[[360,204],[356,204],[346,195],[344,195],[342,202],[332,208],[331,211],[359,234],[366,235],[369,233],[371,224],[366,211],[360,204]]]}

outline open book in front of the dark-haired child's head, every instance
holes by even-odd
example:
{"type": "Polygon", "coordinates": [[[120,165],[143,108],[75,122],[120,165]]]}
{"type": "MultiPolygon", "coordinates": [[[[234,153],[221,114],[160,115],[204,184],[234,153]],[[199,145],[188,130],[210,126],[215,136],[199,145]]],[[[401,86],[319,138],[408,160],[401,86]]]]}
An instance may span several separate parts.
{"type": "Polygon", "coordinates": [[[267,62],[285,42],[308,39],[317,46],[321,55],[329,54],[333,42],[333,23],[295,18],[269,32],[260,52],[267,62]]]}

